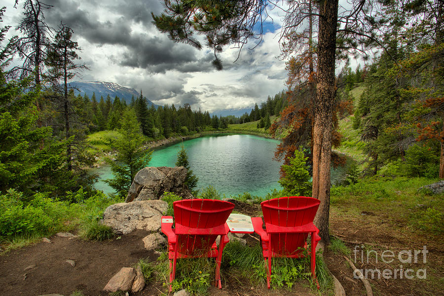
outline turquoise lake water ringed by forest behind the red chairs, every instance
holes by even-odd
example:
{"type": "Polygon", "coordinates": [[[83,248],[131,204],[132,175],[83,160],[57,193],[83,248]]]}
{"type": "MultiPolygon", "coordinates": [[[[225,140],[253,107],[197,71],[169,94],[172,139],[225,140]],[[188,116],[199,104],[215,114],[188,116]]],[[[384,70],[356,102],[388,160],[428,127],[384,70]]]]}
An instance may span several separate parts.
{"type": "MultiPolygon", "coordinates": [[[[212,185],[227,197],[250,192],[264,196],[279,185],[281,163],[273,160],[280,141],[252,135],[211,135],[165,148],[155,149],[148,166],[173,167],[184,145],[193,173],[199,178],[197,189],[212,185]]],[[[100,180],[96,189],[113,192],[102,180],[112,178],[110,167],[91,169],[100,180]]]]}

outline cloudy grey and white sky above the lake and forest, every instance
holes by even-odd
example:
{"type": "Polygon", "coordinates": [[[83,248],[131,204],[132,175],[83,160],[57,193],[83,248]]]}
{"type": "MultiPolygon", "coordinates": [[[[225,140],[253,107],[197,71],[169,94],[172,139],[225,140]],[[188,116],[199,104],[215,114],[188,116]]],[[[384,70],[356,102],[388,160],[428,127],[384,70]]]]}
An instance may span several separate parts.
{"type": "MultiPolygon", "coordinates": [[[[224,70],[211,66],[214,58],[207,49],[175,43],[159,33],[151,23],[151,12],[163,10],[161,0],[46,0],[54,7],[45,11],[47,23],[57,28],[60,21],[74,30],[82,48],[80,56],[91,71],[75,80],[107,81],[142,89],[158,105],[188,103],[192,109],[210,112],[254,106],[285,88],[285,61],[279,54],[279,28],[283,14],[270,11],[267,33],[254,50],[244,46],[237,62],[237,49],[227,48],[220,55],[224,70]]],[[[22,17],[23,1],[0,0],[6,6],[3,25],[22,17]]],[[[253,40],[254,41],[254,40],[253,40]]]]}

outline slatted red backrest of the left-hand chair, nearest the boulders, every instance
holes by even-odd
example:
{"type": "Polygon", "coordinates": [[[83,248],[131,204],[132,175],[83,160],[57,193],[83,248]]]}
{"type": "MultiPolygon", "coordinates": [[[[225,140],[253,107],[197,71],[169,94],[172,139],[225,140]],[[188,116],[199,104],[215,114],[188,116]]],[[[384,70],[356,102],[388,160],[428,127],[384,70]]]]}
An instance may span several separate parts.
{"type": "Polygon", "coordinates": [[[178,224],[194,229],[208,230],[208,234],[178,234],[179,253],[196,256],[207,253],[219,234],[214,235],[212,229],[223,227],[234,204],[214,199],[183,199],[173,203],[176,228],[178,224]]]}

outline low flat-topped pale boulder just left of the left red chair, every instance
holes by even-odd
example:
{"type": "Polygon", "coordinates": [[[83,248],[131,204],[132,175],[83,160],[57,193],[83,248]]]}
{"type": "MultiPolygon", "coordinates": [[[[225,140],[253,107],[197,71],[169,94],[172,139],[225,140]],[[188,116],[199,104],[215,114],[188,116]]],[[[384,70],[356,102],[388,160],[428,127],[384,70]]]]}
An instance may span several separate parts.
{"type": "Polygon", "coordinates": [[[117,234],[127,234],[136,229],[157,231],[161,216],[168,210],[163,200],[142,200],[130,203],[116,203],[103,213],[103,224],[117,234]]]}

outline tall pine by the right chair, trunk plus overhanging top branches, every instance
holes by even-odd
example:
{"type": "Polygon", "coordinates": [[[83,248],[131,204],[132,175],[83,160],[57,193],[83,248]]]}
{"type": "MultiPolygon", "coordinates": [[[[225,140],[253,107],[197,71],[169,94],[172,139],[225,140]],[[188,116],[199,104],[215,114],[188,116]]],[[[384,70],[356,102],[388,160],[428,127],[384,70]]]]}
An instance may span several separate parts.
{"type": "MultiPolygon", "coordinates": [[[[276,5],[280,1],[272,2],[276,5]]],[[[166,0],[166,11],[160,15],[152,13],[152,17],[157,29],[168,34],[174,41],[181,41],[201,49],[202,44],[194,38],[194,34],[204,35],[206,46],[215,55],[213,65],[217,70],[222,70],[218,53],[224,46],[234,45],[242,48],[252,36],[262,37],[262,31],[259,30],[258,34],[256,28],[266,20],[263,16],[268,16],[264,13],[267,5],[268,1],[222,1],[221,5],[212,5],[211,1],[206,0],[166,0]]],[[[316,93],[312,128],[313,197],[321,200],[315,224],[320,229],[320,236],[326,244],[330,242],[334,65],[337,56],[346,58],[350,54],[357,55],[362,52],[368,57],[367,53],[370,51],[366,49],[380,44],[378,33],[388,20],[384,13],[368,16],[369,11],[374,11],[375,5],[377,3],[374,1],[352,1],[347,7],[339,7],[338,0],[299,0],[291,1],[288,9],[285,8],[286,15],[281,30],[283,54],[291,56],[294,53],[302,53],[307,56],[308,53],[307,61],[312,60],[313,54],[316,54],[317,71],[314,73],[313,69],[310,69],[311,81],[315,79],[318,82],[315,89],[310,88],[316,93]],[[345,25],[338,26],[338,22],[345,25]],[[313,32],[316,32],[316,40],[313,32]]]]}

